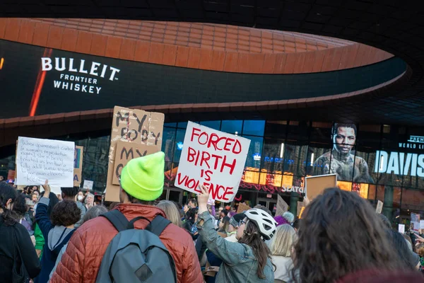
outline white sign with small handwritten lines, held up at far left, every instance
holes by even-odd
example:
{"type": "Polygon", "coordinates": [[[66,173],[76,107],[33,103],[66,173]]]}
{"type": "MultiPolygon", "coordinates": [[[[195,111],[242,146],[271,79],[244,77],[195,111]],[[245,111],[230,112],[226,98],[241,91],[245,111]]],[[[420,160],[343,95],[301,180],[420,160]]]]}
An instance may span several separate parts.
{"type": "Polygon", "coordinates": [[[71,141],[19,137],[16,150],[16,185],[44,185],[45,180],[57,187],[73,186],[71,141]]]}

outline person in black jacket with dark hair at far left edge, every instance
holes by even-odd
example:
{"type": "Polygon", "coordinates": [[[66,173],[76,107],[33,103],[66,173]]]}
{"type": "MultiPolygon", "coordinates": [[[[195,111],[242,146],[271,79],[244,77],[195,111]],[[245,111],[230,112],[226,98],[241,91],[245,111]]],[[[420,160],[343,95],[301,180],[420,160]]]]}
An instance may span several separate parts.
{"type": "MultiPolygon", "coordinates": [[[[24,270],[25,279],[35,278],[40,273],[41,265],[24,226],[16,221],[13,203],[16,191],[10,185],[0,183],[0,281],[16,282],[13,270],[24,270]],[[21,268],[23,267],[23,268],[21,268]],[[15,280],[15,281],[13,281],[15,280]]],[[[22,281],[22,280],[21,280],[22,281]]]]}

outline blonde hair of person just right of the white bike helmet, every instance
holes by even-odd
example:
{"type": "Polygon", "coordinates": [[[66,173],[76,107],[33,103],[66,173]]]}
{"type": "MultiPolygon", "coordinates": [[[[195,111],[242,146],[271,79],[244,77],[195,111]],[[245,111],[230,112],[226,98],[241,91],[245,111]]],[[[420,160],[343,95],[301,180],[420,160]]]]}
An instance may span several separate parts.
{"type": "Polygon", "coordinates": [[[271,239],[271,244],[269,245],[271,255],[289,257],[291,255],[291,249],[297,238],[298,236],[296,235],[296,231],[292,226],[288,224],[278,226],[276,233],[271,239]]]}

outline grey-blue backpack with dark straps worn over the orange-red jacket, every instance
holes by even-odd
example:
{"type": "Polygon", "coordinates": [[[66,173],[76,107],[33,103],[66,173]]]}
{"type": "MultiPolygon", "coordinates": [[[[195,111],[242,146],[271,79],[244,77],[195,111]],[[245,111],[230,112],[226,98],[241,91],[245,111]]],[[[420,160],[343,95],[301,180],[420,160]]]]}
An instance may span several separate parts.
{"type": "Polygon", "coordinates": [[[171,221],[156,216],[152,221],[138,216],[131,221],[114,209],[102,215],[119,232],[110,242],[95,282],[177,282],[175,262],[159,235],[171,221]],[[134,229],[134,222],[146,219],[146,229],[134,229]]]}

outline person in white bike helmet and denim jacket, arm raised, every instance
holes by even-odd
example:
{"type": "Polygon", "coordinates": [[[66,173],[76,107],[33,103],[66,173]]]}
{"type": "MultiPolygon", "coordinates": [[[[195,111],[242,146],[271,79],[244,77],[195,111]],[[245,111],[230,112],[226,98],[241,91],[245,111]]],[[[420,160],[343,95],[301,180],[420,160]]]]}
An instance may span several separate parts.
{"type": "Polygon", "coordinates": [[[223,260],[217,283],[225,282],[273,282],[274,266],[265,240],[273,237],[276,221],[262,209],[249,209],[237,229],[238,243],[225,241],[214,229],[213,219],[208,213],[208,189],[201,185],[197,196],[199,221],[197,228],[208,250],[223,260]]]}

